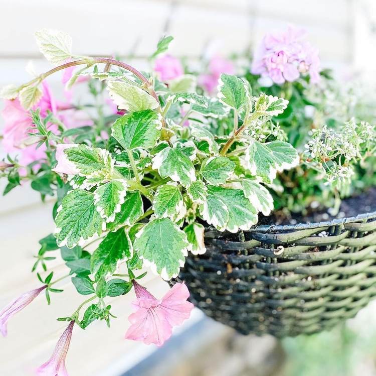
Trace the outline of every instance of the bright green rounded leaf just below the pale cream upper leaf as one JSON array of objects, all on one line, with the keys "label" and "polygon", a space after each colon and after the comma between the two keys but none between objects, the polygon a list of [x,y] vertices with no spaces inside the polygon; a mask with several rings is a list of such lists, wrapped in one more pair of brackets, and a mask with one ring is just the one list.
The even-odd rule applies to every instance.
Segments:
[{"label": "bright green rounded leaf just below the pale cream upper leaf", "polygon": [[127,151],[150,149],[160,136],[162,123],[151,110],[136,111],[119,117],[112,126],[112,137]]}]

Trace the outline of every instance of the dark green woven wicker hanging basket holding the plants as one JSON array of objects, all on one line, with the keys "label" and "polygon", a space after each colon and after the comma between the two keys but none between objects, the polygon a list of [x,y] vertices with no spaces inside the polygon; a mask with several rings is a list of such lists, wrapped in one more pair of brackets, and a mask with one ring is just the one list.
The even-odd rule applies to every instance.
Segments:
[{"label": "dark green woven wicker hanging basket holding the plants", "polygon": [[236,234],[210,227],[205,242],[177,280],[197,307],[243,334],[330,329],[376,296],[376,212]]}]

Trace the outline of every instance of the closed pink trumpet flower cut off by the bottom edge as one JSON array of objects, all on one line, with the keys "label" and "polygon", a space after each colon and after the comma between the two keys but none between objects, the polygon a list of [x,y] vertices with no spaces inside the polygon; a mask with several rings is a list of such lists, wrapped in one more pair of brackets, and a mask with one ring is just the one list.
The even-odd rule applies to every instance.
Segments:
[{"label": "closed pink trumpet flower cut off by the bottom edge", "polygon": [[38,376],[68,376],[65,358],[72,338],[73,325],[74,320],[69,323],[67,329],[59,338],[51,358],[37,368],[36,374]]}]

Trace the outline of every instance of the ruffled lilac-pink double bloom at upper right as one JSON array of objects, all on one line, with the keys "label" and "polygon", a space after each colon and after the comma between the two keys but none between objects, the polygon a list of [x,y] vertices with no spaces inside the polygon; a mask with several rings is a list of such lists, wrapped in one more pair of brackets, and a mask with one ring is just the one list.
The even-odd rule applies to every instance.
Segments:
[{"label": "ruffled lilac-pink double bloom at upper right", "polygon": [[301,73],[309,73],[311,82],[318,82],[318,50],[304,41],[304,36],[304,30],[292,26],[282,33],[266,34],[255,51],[251,72],[278,84],[295,81]]}]

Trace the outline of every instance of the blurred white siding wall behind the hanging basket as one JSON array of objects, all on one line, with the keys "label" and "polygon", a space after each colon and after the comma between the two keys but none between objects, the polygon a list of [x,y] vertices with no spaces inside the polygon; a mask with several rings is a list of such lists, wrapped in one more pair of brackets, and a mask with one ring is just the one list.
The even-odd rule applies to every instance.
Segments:
[{"label": "blurred white siding wall behind the hanging basket", "polygon": [[[164,34],[175,38],[169,50],[173,55],[198,58],[216,52],[226,56],[252,49],[267,30],[288,23],[307,30],[308,39],[320,50],[322,66],[333,68],[338,76],[374,69],[373,0],[0,0],[0,86],[27,81],[25,66],[30,60],[38,72],[49,68],[34,41],[34,32],[41,28],[68,32],[77,54],[131,54],[136,67],[142,68],[142,58]],[[59,79],[50,81],[58,96],[63,90]],[[38,251],[38,239],[53,230],[53,221],[52,203],[40,203],[39,194],[26,187],[15,189],[0,202],[0,250],[7,255],[0,265],[3,306],[38,286],[30,273],[32,256]],[[55,271],[63,275],[66,268],[56,263]],[[151,274],[148,278],[155,295],[167,289]],[[51,306],[39,297],[10,323],[9,337],[0,339],[2,376],[32,374],[50,356],[65,327],[56,317],[69,315],[81,302],[72,285],[61,287],[67,291],[54,295]],[[132,294],[113,298],[118,318],[110,330],[104,322],[86,331],[75,329],[67,360],[70,376],[117,376],[155,350],[123,339],[133,298]],[[200,317],[197,311],[185,328]]]}]

